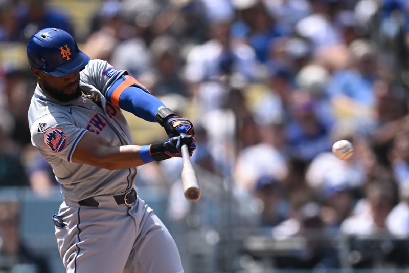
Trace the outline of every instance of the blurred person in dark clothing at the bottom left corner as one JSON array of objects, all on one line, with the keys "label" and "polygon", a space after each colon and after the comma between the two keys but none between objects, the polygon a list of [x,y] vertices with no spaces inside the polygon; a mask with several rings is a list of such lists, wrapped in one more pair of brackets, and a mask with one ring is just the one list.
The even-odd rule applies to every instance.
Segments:
[{"label": "blurred person in dark clothing at the bottom left corner", "polygon": [[[0,202],[0,269],[7,272],[49,273],[47,260],[20,240],[20,211],[17,202]],[[24,268],[24,269],[22,269]],[[26,271],[27,270],[27,271]]]}]

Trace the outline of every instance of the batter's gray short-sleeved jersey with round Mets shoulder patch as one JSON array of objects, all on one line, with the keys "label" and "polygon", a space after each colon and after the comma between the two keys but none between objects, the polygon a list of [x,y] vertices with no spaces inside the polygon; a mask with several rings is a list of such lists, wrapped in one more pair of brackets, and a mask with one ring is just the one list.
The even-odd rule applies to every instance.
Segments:
[{"label": "batter's gray short-sleeved jersey with round Mets shoulder patch", "polygon": [[133,144],[120,108],[104,97],[124,73],[106,61],[91,60],[80,72],[80,88],[87,97],[62,103],[37,85],[31,99],[28,118],[32,144],[52,166],[64,196],[73,201],[115,195],[133,187],[135,167],[107,170],[72,162],[76,145],[87,131],[102,136],[112,146]]}]

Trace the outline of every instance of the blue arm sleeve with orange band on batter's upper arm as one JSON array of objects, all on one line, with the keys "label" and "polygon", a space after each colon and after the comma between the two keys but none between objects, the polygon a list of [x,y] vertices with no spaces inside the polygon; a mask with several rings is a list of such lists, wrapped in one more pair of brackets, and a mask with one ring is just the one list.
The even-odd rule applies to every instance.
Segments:
[{"label": "blue arm sleeve with orange band on batter's upper arm", "polygon": [[122,76],[108,89],[106,93],[107,99],[111,103],[117,104],[116,101],[112,101],[114,100],[112,99],[112,94],[117,92],[115,97],[119,97],[118,106],[121,109],[131,112],[144,120],[157,122],[155,118],[157,110],[161,107],[165,107],[165,104],[151,95],[144,86],[138,84],[139,82],[137,80],[134,80],[133,85],[122,90],[120,86],[124,81],[125,76]]}]

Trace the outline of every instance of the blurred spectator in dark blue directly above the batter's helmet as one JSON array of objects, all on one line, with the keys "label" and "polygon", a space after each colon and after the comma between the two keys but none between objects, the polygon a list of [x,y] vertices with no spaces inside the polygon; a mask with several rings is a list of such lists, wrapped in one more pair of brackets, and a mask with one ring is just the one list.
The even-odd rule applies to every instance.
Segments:
[{"label": "blurred spectator in dark blue directly above the batter's helmet", "polygon": [[51,9],[46,0],[20,0],[17,6],[20,32],[25,40],[43,28],[59,28],[74,35],[70,16],[63,9]]}]

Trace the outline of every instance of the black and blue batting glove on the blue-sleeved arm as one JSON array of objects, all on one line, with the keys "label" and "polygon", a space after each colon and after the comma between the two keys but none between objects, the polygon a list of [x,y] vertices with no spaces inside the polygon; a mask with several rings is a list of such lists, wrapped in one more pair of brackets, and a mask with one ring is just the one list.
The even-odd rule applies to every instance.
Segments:
[{"label": "black and blue batting glove on the blue-sleeved arm", "polygon": [[177,116],[169,108],[161,108],[157,111],[156,120],[161,124],[168,134],[169,138],[178,136],[182,133],[194,136],[195,131],[193,129],[193,123],[185,118]]}]

